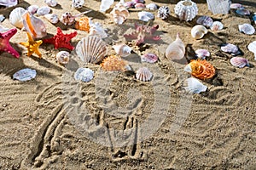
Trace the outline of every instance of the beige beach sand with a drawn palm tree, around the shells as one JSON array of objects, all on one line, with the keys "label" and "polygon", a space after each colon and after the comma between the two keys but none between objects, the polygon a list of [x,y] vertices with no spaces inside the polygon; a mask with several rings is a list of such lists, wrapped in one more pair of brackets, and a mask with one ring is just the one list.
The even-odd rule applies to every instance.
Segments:
[{"label": "beige beach sand with a drawn palm tree, around the shells", "polygon": [[[21,1],[27,8],[42,1]],[[125,31],[134,28],[139,9],[131,9],[124,25],[113,23],[110,10],[99,12],[100,1],[87,0],[84,8],[71,8],[71,1],[57,1],[53,13],[85,14],[108,29],[105,41],[109,54],[111,45],[125,42],[133,53],[124,58],[131,68],[147,66],[154,77],[150,82],[138,81],[132,72],[104,72],[99,65],[84,65],[72,53],[69,65],[59,65],[55,55],[64,48],[55,49],[42,44],[43,59],[36,54],[26,56],[25,31],[20,31],[10,42],[21,54],[15,59],[7,53],[0,57],[0,169],[253,169],[256,167],[255,104],[256,82],[254,56],[247,45],[256,40],[238,31],[238,25],[253,22],[247,16],[212,14],[206,1],[195,1],[199,8],[190,22],[178,20],[174,6],[178,1],[146,1],[166,5],[171,9],[168,20],[155,17],[150,26],[159,25],[156,34],[160,42],[146,42],[136,47],[125,41]],[[118,3],[118,2],[114,2]],[[256,12],[253,0],[233,1]],[[15,7],[13,7],[15,8]],[[9,13],[13,8],[2,8],[7,18],[3,26],[12,28]],[[153,11],[157,14],[157,10]],[[201,15],[211,16],[224,24],[224,29],[208,31],[200,40],[190,30]],[[75,31],[73,26],[61,23],[47,26],[48,37],[55,35],[60,26],[65,33]],[[253,24],[255,28],[255,24]],[[164,52],[177,32],[186,45],[186,58],[173,62]],[[88,35],[78,31],[72,39],[75,46]],[[230,42],[242,51],[250,67],[236,68],[230,64],[232,55],[220,50],[220,44]],[[216,68],[212,80],[203,81],[207,92],[188,94],[183,89],[184,79],[190,75],[183,71],[188,59],[198,48],[206,48],[211,56],[207,60]],[[70,51],[69,51],[70,52]],[[155,64],[142,63],[139,55],[159,55]],[[75,82],[73,73],[80,66],[95,71],[90,82]],[[13,80],[16,71],[32,68],[37,77],[28,82]]]}]

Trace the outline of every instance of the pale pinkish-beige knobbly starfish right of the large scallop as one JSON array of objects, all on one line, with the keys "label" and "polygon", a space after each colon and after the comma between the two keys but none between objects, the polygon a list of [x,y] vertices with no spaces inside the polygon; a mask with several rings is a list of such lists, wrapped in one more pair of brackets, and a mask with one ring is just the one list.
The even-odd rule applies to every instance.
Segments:
[{"label": "pale pinkish-beige knobbly starfish right of the large scallop", "polygon": [[147,40],[158,41],[161,39],[160,36],[155,36],[154,32],[159,28],[158,25],[155,26],[143,26],[135,24],[135,31],[131,34],[125,34],[126,39],[136,39],[136,44],[140,45],[141,43]]}]

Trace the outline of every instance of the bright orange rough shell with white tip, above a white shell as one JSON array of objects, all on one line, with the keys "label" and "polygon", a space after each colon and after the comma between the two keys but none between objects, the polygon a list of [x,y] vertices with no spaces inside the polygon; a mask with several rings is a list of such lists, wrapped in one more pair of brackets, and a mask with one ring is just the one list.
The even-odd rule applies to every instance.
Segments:
[{"label": "bright orange rough shell with white tip, above a white shell", "polygon": [[189,65],[185,66],[184,71],[189,72],[193,77],[199,79],[208,79],[215,75],[214,67],[205,59],[191,59]]}]

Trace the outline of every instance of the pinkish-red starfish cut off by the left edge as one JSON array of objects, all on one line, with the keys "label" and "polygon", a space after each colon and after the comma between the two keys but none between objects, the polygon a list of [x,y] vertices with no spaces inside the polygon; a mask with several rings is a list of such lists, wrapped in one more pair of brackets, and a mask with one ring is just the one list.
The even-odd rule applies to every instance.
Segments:
[{"label": "pinkish-red starfish cut off by the left edge", "polygon": [[9,39],[17,32],[16,28],[10,29],[6,32],[0,32],[0,51],[7,52],[14,55],[16,58],[20,57],[20,54],[9,44]]}]

